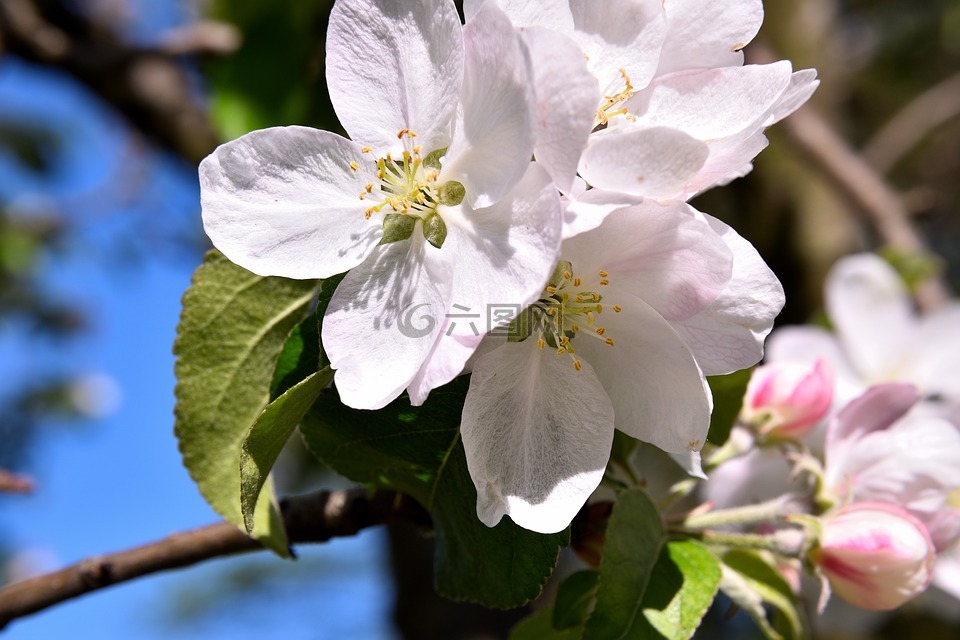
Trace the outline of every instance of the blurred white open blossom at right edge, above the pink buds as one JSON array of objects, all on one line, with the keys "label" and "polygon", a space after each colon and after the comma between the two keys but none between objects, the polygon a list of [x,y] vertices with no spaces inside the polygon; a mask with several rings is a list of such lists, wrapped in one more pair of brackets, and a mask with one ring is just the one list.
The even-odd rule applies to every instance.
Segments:
[{"label": "blurred white open blossom at right edge, above the pink buds", "polygon": [[909,382],[920,389],[923,410],[960,422],[960,304],[919,315],[893,268],[869,253],[838,260],[824,297],[834,330],[778,329],[767,345],[769,362],[829,361],[838,407],[870,385]]}]

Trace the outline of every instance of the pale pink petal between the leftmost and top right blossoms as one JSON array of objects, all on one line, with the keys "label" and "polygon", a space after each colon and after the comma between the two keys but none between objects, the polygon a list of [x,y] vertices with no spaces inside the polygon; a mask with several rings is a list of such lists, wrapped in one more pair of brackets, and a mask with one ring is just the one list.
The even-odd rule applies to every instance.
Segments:
[{"label": "pale pink petal between the leftmost and top right blossoms", "polygon": [[600,89],[574,42],[545,28],[523,31],[537,91],[537,162],[569,191],[593,129]]}]

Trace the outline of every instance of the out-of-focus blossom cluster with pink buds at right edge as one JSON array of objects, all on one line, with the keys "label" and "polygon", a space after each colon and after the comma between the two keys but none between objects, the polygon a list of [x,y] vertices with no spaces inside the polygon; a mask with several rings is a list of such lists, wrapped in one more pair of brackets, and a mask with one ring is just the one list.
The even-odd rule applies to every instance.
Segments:
[{"label": "out-of-focus blossom cluster with pink buds at right edge", "polygon": [[[872,254],[841,259],[825,298],[833,331],[771,335],[733,436],[746,455],[717,467],[707,496],[721,507],[772,498],[791,479],[802,488],[790,476],[802,469],[820,512],[808,559],[834,593],[887,610],[933,581],[960,598],[960,304],[918,317]],[[788,462],[790,441],[805,446]]]}]

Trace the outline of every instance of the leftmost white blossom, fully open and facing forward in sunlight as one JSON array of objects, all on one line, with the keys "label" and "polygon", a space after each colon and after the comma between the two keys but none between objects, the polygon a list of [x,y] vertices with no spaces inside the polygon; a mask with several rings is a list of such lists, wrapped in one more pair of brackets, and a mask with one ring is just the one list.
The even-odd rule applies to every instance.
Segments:
[{"label": "leftmost white blossom, fully open and facing forward in sunlight", "polygon": [[[529,55],[493,5],[462,27],[452,0],[338,0],[326,62],[350,139],[282,127],[219,147],[200,167],[204,228],[260,275],[349,271],[322,335],[342,400],[382,407],[429,362],[422,401],[462,370],[485,306],[532,303],[557,260]],[[477,319],[443,323],[462,309]],[[434,358],[442,341],[459,348]]]}]

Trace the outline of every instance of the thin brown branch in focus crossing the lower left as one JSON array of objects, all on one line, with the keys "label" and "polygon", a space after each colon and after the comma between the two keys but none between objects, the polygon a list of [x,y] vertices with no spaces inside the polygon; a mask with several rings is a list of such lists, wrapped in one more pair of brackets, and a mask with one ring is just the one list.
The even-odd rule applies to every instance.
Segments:
[{"label": "thin brown branch in focus crossing the lower left", "polygon": [[[296,496],[284,500],[280,508],[291,543],[326,542],[394,520],[429,521],[426,511],[407,496],[393,492],[371,494],[360,488]],[[220,522],[134,549],[87,558],[60,571],[0,589],[0,629],[11,620],[97,589],[263,548],[233,525]]]}]

